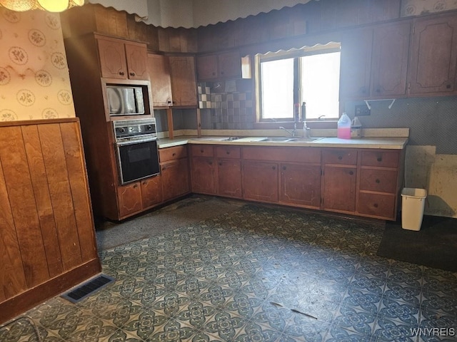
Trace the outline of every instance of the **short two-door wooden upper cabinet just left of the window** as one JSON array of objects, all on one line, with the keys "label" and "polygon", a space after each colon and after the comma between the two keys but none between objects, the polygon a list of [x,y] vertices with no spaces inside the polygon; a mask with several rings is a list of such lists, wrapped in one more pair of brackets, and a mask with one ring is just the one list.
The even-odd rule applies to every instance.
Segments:
[{"label": "short two-door wooden upper cabinet just left of the window", "polygon": [[247,78],[243,66],[248,63],[238,51],[197,56],[197,78],[199,81]]}]

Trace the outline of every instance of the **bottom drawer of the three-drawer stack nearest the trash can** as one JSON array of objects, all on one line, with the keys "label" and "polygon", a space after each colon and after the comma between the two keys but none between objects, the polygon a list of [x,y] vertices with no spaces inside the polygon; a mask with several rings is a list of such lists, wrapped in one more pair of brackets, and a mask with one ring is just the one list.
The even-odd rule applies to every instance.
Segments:
[{"label": "bottom drawer of the three-drawer stack nearest the trash can", "polygon": [[358,194],[358,212],[376,217],[394,219],[395,195]]}]

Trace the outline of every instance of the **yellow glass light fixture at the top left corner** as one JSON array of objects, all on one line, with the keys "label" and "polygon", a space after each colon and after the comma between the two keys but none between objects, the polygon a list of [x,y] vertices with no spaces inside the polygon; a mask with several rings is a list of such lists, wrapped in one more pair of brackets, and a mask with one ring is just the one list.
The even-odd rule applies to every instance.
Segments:
[{"label": "yellow glass light fixture at the top left corner", "polygon": [[16,12],[29,11],[31,9],[61,12],[73,6],[83,5],[84,0],[0,0],[0,6]]}]

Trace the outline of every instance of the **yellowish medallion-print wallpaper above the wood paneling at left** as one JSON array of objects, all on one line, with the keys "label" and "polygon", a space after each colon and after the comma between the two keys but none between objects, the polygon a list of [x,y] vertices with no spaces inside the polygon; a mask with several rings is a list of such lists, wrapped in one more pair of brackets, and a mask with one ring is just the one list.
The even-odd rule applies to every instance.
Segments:
[{"label": "yellowish medallion-print wallpaper above the wood paneling at left", "polygon": [[0,8],[0,121],[75,116],[59,14]]}]

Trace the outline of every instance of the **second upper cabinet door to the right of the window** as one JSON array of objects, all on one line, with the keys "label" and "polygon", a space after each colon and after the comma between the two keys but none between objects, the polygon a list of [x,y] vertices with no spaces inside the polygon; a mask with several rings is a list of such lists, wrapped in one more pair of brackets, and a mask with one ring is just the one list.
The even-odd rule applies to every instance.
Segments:
[{"label": "second upper cabinet door to the right of the window", "polygon": [[371,98],[406,96],[411,22],[380,26],[374,31]]}]

